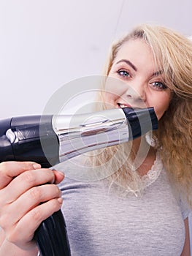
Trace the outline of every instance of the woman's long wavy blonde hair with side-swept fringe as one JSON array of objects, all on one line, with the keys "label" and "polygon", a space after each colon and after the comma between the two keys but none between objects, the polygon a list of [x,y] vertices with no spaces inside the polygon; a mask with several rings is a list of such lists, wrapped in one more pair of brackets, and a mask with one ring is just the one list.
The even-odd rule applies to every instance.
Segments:
[{"label": "woman's long wavy blonde hair with side-swept fringe", "polygon": [[[130,39],[144,39],[153,52],[155,65],[164,73],[164,83],[172,91],[169,109],[154,132],[161,147],[161,158],[167,172],[177,189],[183,189],[188,197],[192,185],[192,43],[191,40],[171,29],[161,26],[141,25],[131,31],[118,42],[113,43],[107,59],[104,75],[110,73],[115,56],[122,45]],[[100,99],[103,100],[103,95]],[[125,150],[125,145],[118,148],[107,148],[104,154],[97,157],[96,162],[104,159],[117,150]],[[124,148],[124,149],[123,149]],[[112,153],[113,152],[113,153]],[[117,159],[116,159],[117,160]],[[115,160],[115,161],[116,161]],[[122,159],[123,164],[118,173],[124,173],[120,180],[134,184],[137,189],[139,178],[131,172],[130,157]],[[116,173],[115,179],[120,175]],[[126,174],[125,174],[126,173]],[[133,177],[134,175],[134,177]],[[126,178],[125,178],[126,176]],[[122,183],[120,181],[120,183]],[[128,186],[129,186],[128,184]],[[129,186],[130,187],[130,186]]]}]

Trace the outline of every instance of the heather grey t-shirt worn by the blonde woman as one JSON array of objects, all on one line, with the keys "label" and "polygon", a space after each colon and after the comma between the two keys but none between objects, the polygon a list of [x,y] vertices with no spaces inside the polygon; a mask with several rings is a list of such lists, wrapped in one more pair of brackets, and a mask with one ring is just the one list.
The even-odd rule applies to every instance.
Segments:
[{"label": "heather grey t-shirt worn by the blonde woman", "polygon": [[65,178],[62,211],[72,256],[179,256],[189,210],[174,197],[166,171],[142,197],[120,197],[107,181]]}]

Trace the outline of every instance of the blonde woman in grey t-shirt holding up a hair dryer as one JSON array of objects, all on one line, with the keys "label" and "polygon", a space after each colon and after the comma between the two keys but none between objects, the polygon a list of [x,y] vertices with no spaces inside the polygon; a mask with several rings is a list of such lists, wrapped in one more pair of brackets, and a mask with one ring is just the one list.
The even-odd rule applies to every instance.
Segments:
[{"label": "blonde woman in grey t-shirt holding up a hair dryer", "polygon": [[[104,108],[154,107],[159,128],[131,150],[94,155],[118,166],[110,177],[59,185],[72,255],[190,255],[191,70],[191,42],[169,29],[140,26],[112,45]],[[37,255],[34,231],[61,208],[64,176],[31,162],[0,167],[0,255]]]}]

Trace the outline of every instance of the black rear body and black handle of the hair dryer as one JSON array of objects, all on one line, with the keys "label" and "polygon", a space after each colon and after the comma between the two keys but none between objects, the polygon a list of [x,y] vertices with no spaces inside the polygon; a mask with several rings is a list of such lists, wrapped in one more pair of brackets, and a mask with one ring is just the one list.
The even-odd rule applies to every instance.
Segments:
[{"label": "black rear body and black handle of the hair dryer", "polygon": [[[43,117],[42,124],[45,129],[42,139],[47,140],[50,153],[54,152],[53,163],[58,161],[58,141],[51,127],[52,116]],[[41,116],[22,116],[7,118],[0,121],[0,162],[3,161],[35,161],[42,167],[50,167],[40,143]],[[11,142],[7,138],[7,131],[11,132],[17,140]],[[47,136],[49,135],[49,136]],[[70,256],[69,239],[66,231],[64,216],[60,211],[43,221],[35,232],[35,240],[41,256]]]}]

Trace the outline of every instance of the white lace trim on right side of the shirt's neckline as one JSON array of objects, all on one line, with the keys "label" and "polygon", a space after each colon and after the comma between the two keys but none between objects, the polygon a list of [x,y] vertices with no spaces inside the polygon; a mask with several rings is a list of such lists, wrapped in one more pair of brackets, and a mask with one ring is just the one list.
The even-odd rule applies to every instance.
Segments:
[{"label": "white lace trim on right side of the shirt's neckline", "polygon": [[161,161],[160,153],[159,153],[159,151],[157,151],[156,159],[155,159],[153,166],[151,167],[150,170],[148,170],[147,174],[142,176],[142,182],[143,182],[144,187],[149,187],[150,184],[153,184],[153,182],[155,182],[157,180],[157,178],[160,175],[161,170],[163,170],[163,168],[164,168],[164,166]]}]

